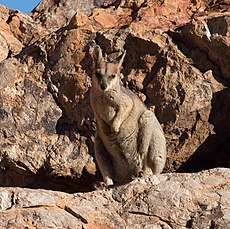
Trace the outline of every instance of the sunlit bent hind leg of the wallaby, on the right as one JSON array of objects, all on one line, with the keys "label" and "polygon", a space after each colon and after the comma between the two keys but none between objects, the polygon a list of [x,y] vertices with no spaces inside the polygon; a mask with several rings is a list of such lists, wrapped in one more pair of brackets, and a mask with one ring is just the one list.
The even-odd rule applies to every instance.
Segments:
[{"label": "sunlit bent hind leg of the wallaby, on the right", "polygon": [[160,174],[166,161],[166,141],[163,130],[155,114],[146,110],[139,119],[139,153],[143,161],[143,170]]}]

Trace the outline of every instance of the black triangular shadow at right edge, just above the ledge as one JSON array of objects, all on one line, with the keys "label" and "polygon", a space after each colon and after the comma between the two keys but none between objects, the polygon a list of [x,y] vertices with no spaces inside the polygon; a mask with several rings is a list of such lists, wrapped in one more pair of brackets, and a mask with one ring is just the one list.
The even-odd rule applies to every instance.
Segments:
[{"label": "black triangular shadow at right edge, just above the ledge", "polygon": [[230,88],[215,93],[209,119],[216,134],[210,135],[178,172],[230,167]]}]

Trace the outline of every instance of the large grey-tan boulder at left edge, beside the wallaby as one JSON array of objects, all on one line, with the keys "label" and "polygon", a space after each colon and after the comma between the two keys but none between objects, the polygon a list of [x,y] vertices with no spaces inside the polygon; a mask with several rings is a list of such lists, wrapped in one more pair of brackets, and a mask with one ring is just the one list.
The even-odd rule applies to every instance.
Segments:
[{"label": "large grey-tan boulder at left edge, beside the wallaby", "polygon": [[62,111],[46,85],[30,78],[28,67],[16,59],[1,62],[0,69],[1,185],[39,186],[41,175],[79,178],[84,170],[95,173],[86,140],[79,136],[71,142],[58,135]]}]

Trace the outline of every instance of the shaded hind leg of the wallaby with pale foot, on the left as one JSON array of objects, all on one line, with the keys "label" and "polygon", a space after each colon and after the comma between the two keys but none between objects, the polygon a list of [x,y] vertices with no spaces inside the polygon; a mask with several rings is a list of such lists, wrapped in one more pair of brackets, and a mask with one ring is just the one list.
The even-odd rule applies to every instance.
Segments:
[{"label": "shaded hind leg of the wallaby with pale foot, on the left", "polygon": [[94,153],[105,186],[113,185],[112,162],[98,133],[95,136]]}]

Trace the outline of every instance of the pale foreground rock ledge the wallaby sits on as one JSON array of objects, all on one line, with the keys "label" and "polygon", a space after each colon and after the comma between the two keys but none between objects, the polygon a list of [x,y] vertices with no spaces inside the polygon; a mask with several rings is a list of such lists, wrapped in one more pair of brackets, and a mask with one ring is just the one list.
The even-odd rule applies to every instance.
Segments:
[{"label": "pale foreground rock ledge the wallaby sits on", "polygon": [[162,174],[66,194],[0,188],[1,228],[228,228],[230,170]]}]

